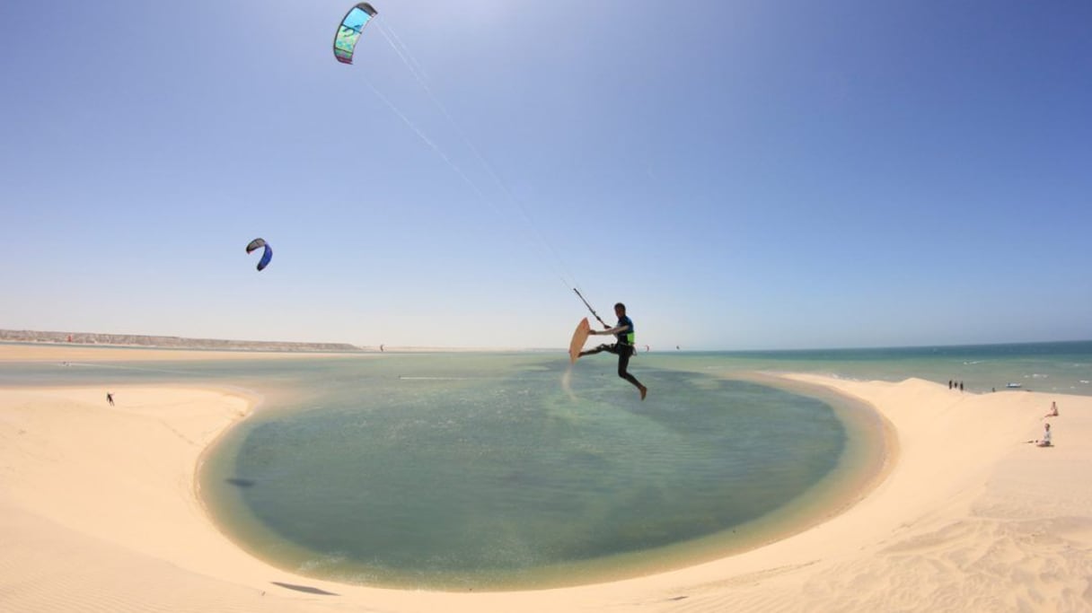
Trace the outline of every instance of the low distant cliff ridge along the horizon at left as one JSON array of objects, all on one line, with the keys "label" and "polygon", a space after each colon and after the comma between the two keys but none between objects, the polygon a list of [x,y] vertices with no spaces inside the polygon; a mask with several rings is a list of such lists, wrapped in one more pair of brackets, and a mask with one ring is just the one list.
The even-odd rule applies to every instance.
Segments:
[{"label": "low distant cliff ridge along the horizon at left", "polygon": [[367,351],[347,342],[289,342],[278,340],[222,340],[216,338],[182,338],[179,336],[142,336],[136,334],[92,334],[85,332],[37,332],[0,329],[0,341],[70,342],[73,345],[110,345],[156,349],[219,349],[236,351]]}]

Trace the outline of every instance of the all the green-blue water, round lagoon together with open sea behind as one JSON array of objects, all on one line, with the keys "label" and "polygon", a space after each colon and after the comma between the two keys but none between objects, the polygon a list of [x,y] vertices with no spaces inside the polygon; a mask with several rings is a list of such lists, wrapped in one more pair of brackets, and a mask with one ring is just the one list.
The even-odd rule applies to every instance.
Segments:
[{"label": "all the green-blue water, round lagoon together with open sea behind", "polygon": [[757,546],[876,477],[870,411],[746,373],[1090,395],[1092,342],[642,352],[630,372],[650,387],[644,402],[614,371],[608,354],[570,369],[560,351],[402,353],[2,363],[0,385],[254,392],[256,414],[199,474],[206,508],[241,548],[351,584],[526,589]]}]

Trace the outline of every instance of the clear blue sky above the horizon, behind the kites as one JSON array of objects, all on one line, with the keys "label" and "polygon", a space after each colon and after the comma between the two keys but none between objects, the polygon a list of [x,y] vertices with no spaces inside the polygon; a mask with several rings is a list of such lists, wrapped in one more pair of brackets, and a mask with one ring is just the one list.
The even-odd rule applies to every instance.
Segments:
[{"label": "clear blue sky above the horizon, behind the kites", "polygon": [[1092,338],[1092,3],[373,4],[0,4],[0,327]]}]

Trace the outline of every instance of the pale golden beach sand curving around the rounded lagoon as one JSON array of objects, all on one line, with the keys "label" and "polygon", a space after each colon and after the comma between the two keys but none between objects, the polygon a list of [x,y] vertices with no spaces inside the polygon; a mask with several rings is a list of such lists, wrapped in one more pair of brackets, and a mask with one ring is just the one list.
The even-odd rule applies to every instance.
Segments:
[{"label": "pale golden beach sand curving around the rounded lagoon", "polygon": [[[254,398],[112,386],[111,407],[105,388],[0,389],[0,611],[1092,611],[1092,397],[785,376],[889,422],[885,478],[855,504],[684,569],[491,593],[321,581],[236,546],[194,473]],[[1028,444],[1052,401],[1055,446]]]}]

